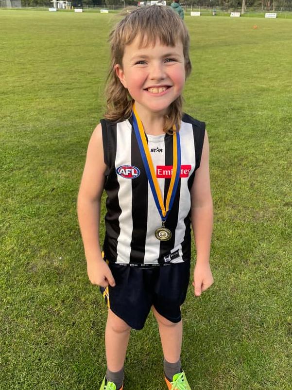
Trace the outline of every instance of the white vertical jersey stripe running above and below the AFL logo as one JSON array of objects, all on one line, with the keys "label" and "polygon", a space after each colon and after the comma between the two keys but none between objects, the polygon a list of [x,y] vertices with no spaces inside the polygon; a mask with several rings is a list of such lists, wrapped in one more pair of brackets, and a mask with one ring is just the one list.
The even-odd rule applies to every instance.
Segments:
[{"label": "white vertical jersey stripe running above and below the AFL logo", "polygon": [[[121,165],[131,165],[131,127],[127,122],[117,124],[116,169]],[[117,263],[129,263],[133,231],[132,220],[132,180],[117,175],[120,189],[118,192],[121,213],[119,216],[120,235],[117,245]]]}]

